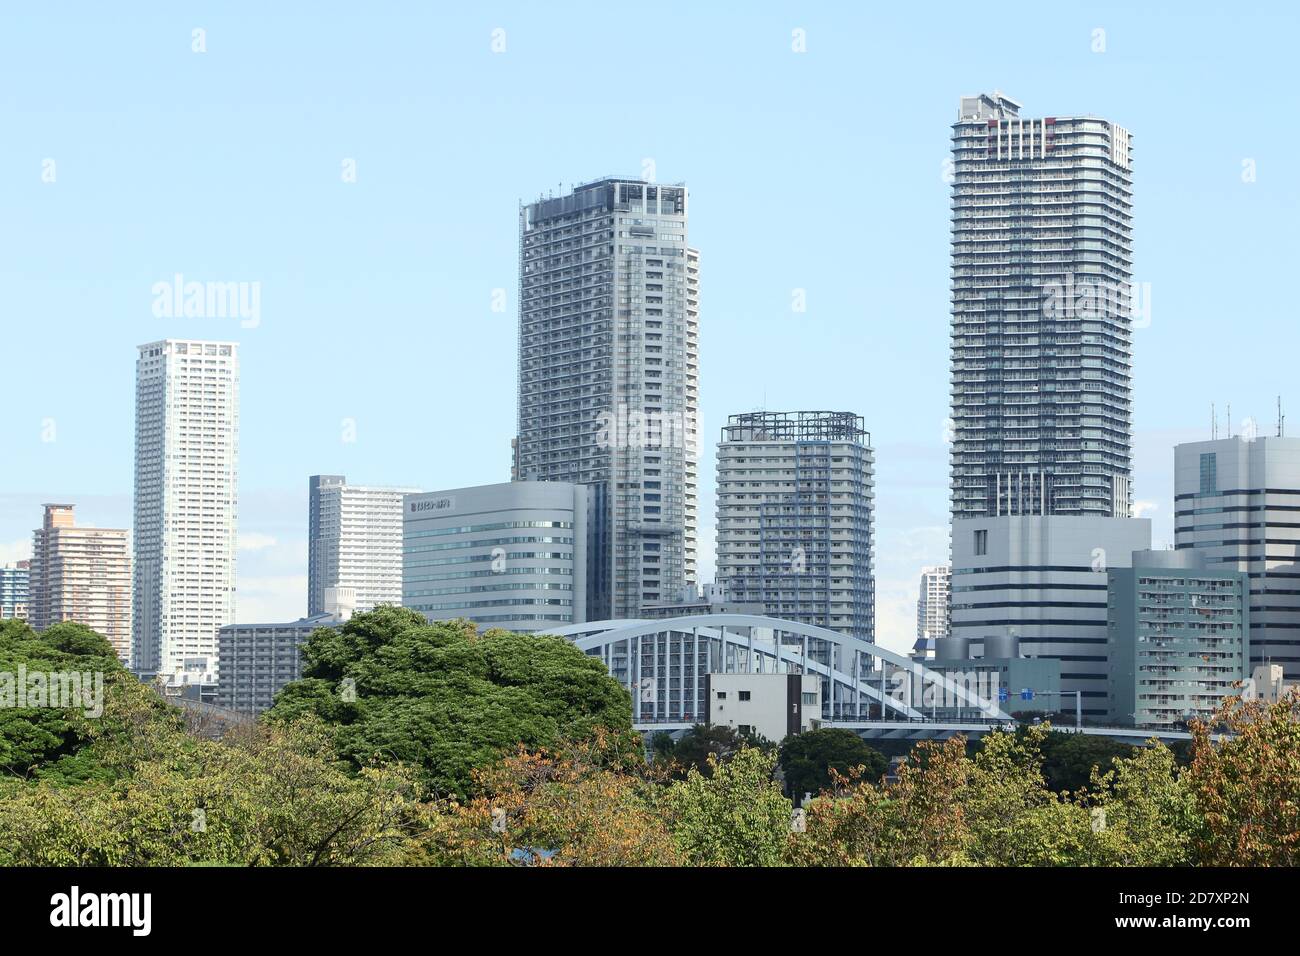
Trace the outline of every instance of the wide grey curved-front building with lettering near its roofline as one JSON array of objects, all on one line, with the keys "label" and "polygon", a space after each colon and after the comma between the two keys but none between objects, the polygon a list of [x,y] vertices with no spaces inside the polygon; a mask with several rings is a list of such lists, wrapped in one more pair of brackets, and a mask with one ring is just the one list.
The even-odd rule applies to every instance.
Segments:
[{"label": "wide grey curved-front building with lettering near its roofline", "polygon": [[519,632],[584,622],[586,492],[508,481],[407,496],[402,605]]}]

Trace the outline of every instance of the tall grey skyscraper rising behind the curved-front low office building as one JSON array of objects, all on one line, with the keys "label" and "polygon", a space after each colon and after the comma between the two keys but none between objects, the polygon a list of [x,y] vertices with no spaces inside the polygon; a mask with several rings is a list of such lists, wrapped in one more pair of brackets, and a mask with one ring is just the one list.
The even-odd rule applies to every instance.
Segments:
[{"label": "tall grey skyscraper rising behind the curved-front low office building", "polygon": [[589,486],[588,619],[696,583],[699,255],[686,187],[599,179],[519,215],[516,480]]}]

